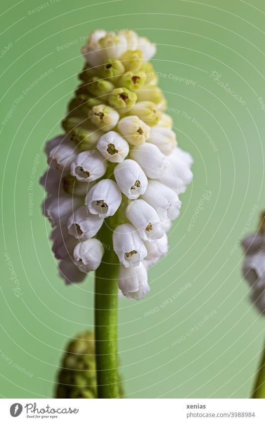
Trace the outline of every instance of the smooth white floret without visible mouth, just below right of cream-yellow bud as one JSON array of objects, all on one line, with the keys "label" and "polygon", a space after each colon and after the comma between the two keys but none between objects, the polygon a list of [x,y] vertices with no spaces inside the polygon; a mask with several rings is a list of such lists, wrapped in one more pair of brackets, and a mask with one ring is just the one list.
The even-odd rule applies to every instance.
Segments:
[{"label": "smooth white floret without visible mouth, just below right of cream-yellow bud", "polygon": [[166,156],[149,142],[132,148],[131,157],[140,164],[148,178],[160,178],[166,169]]}]

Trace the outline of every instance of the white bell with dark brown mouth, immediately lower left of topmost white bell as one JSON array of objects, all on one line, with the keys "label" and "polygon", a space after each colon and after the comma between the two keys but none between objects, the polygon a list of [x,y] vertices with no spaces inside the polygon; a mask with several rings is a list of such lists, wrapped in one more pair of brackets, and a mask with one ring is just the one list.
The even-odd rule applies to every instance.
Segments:
[{"label": "white bell with dark brown mouth, immediately lower left of topmost white bell", "polygon": [[79,181],[94,181],[106,172],[106,160],[98,151],[83,151],[71,164],[71,175]]}]

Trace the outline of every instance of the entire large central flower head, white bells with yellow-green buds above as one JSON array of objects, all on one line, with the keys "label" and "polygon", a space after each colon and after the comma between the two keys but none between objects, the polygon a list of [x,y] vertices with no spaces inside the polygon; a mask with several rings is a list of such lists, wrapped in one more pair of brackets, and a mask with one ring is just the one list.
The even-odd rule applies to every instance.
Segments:
[{"label": "entire large central flower head, white bells with yellow-green buds above", "polygon": [[147,269],[167,254],[178,194],[192,179],[192,158],[177,147],[148,62],[155,51],[134,31],[90,35],[82,83],[63,121],[66,134],[47,142],[49,169],[41,179],[61,275],[80,282],[97,269],[107,222],[102,228],[113,232],[118,285],[129,299],[150,290]]}]

